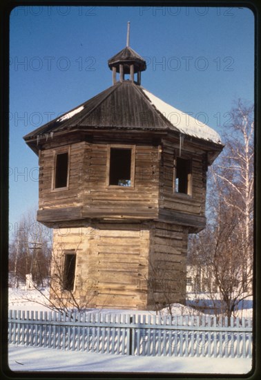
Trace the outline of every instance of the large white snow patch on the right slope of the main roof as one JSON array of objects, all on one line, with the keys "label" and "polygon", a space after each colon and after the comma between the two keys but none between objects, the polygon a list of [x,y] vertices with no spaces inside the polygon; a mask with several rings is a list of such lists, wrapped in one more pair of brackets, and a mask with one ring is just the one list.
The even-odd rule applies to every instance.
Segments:
[{"label": "large white snow patch on the right slope of the main roof", "polygon": [[155,106],[157,111],[160,111],[160,113],[162,113],[173,126],[179,129],[181,133],[221,144],[220,135],[210,126],[200,122],[200,120],[194,119],[194,117],[174,108],[170,104],[163,102],[162,99],[159,99],[149,91],[145,90],[145,88],[142,88],[142,91],[151,101],[153,106]]}]

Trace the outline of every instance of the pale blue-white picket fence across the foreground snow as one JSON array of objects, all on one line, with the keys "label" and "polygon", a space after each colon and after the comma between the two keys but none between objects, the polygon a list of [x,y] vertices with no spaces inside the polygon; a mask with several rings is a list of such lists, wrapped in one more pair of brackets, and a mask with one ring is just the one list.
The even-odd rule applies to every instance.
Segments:
[{"label": "pale blue-white picket fence across the foreground snow", "polygon": [[10,310],[14,345],[108,354],[252,357],[251,319]]}]

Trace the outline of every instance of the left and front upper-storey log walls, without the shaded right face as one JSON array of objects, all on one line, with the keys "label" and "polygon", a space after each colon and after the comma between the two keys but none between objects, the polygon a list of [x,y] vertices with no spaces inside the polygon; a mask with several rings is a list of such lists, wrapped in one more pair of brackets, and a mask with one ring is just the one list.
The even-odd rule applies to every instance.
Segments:
[{"label": "left and front upper-storey log walls, without the shaded right face", "polygon": [[[81,218],[110,217],[151,218],[157,216],[158,149],[135,146],[134,187],[108,186],[108,145],[79,142],[70,145],[68,189],[52,190],[55,151],[41,151],[39,158],[39,210],[64,209],[63,218],[72,216],[71,207],[81,207]],[[77,215],[79,211],[77,211]],[[42,213],[39,221],[55,220],[55,214]]]}]

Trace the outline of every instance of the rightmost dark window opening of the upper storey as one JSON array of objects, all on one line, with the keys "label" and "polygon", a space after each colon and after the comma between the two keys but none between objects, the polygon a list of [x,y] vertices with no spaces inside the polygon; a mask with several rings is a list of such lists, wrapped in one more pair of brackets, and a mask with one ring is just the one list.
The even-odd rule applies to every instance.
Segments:
[{"label": "rightmost dark window opening of the upper storey", "polygon": [[174,185],[176,193],[191,195],[191,160],[177,158]]}]

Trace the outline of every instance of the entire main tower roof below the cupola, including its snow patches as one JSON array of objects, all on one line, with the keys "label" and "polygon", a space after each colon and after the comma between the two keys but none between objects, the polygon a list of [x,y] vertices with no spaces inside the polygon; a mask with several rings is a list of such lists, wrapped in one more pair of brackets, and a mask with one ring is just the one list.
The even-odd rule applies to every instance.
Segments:
[{"label": "entire main tower roof below the cupola, including its snow patches", "polygon": [[117,82],[23,138],[37,151],[39,136],[75,129],[174,131],[221,144],[220,136],[209,126],[166,104],[131,81]]}]

